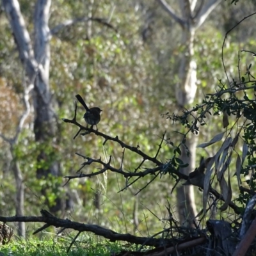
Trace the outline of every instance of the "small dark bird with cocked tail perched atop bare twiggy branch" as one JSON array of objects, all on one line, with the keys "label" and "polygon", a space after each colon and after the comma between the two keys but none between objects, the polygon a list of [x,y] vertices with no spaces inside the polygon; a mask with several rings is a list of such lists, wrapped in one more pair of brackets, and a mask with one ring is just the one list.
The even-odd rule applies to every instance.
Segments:
[{"label": "small dark bird with cocked tail perched atop bare twiggy branch", "polygon": [[[83,107],[86,109],[86,113],[84,113],[84,120],[87,124],[96,125],[100,122],[100,112],[102,111],[100,108],[94,107],[94,108],[88,108],[88,106],[85,104],[83,98],[81,95],[77,94],[76,99],[83,105]],[[92,128],[91,127],[91,128]],[[97,128],[98,129],[98,128]]]}]

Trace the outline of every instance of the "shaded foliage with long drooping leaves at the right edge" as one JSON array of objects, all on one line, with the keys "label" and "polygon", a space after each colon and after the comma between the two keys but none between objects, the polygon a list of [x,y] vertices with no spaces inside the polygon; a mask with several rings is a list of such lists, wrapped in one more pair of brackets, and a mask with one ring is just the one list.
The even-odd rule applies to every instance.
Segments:
[{"label": "shaded foliage with long drooping leaves at the right edge", "polygon": [[[252,71],[250,71],[253,70],[252,64],[246,66],[244,71],[243,69],[240,70],[240,68],[241,67],[239,66],[239,74],[244,73],[245,76],[241,75],[238,80],[233,78],[228,86],[220,81],[219,90],[216,93],[209,93],[206,95],[202,104],[196,105],[189,111],[184,111],[184,115],[182,116],[170,116],[172,120],[179,121],[182,125],[186,126],[189,132],[197,134],[200,126],[211,122],[210,120],[214,116],[223,115],[223,127],[226,128],[229,125],[226,130],[225,140],[214,154],[215,167],[213,167],[214,162],[212,162],[211,166],[207,166],[207,171],[205,173],[205,179],[206,176],[208,176],[209,182],[211,179],[211,183],[214,179],[213,177],[218,179],[223,195],[227,193],[227,190],[223,190],[224,188],[222,187],[223,185],[221,185],[221,182],[225,179],[230,180],[232,178],[232,173],[234,174],[234,171],[232,172],[234,169],[236,169],[237,188],[241,188],[240,186],[243,188],[243,186],[245,186],[246,188],[250,188],[250,191],[255,191],[256,189],[256,175],[253,172],[256,164],[254,154],[256,148],[256,81]],[[207,113],[212,117],[207,116]],[[220,117],[218,118],[220,119]],[[192,119],[193,121],[189,119]],[[232,124],[229,124],[228,120],[230,120]],[[186,136],[187,134],[184,134],[184,138],[186,138]],[[213,143],[220,141],[222,137],[223,133],[218,134],[211,141],[199,145],[198,147],[209,147]],[[242,152],[239,150],[238,145],[243,145]],[[179,154],[178,150],[176,150],[176,152]],[[232,164],[232,162],[235,163],[234,160],[232,161],[233,152],[236,152],[236,166]],[[213,177],[211,175],[212,172],[214,173]],[[245,179],[243,179],[243,177],[245,177]],[[207,182],[204,182],[204,191],[207,190],[205,189],[206,184]],[[235,187],[234,183],[232,184],[232,187]],[[232,193],[230,184],[225,186],[227,186],[225,189],[230,190],[230,193]],[[253,194],[244,193],[244,190],[241,189],[241,193],[237,195],[235,200],[245,207],[252,196]],[[228,199],[226,198],[225,200]]]}]

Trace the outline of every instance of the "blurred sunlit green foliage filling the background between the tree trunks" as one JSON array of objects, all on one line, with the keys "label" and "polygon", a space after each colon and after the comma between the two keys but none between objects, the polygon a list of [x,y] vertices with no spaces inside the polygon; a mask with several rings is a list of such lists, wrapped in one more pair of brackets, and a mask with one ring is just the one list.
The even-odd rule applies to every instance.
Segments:
[{"label": "blurred sunlit green foliage filling the background between the tree trunks", "polygon": [[[29,31],[33,31],[33,3],[20,1],[20,4]],[[254,65],[253,61],[249,61],[248,68],[246,68],[248,55],[240,54],[240,62],[238,62],[237,56],[239,49],[243,49],[245,46],[251,49],[253,46],[255,47],[255,36],[252,35],[251,39],[248,35],[249,39],[246,44],[238,43],[230,36],[228,46],[224,47],[225,65],[229,70],[228,74],[231,73],[234,77],[233,92],[223,82],[226,79],[221,65],[223,34],[219,26],[214,27],[212,22],[209,22],[209,24],[205,24],[205,29],[202,32],[198,31],[195,40],[195,60],[199,70],[198,99],[196,99],[195,108],[191,112],[185,111],[181,116],[182,110],[175,104],[173,90],[179,70],[179,52],[184,47],[177,45],[180,28],[177,28],[174,23],[170,26],[170,20],[167,20],[166,16],[159,12],[159,8],[156,8],[153,3],[148,2],[147,4],[147,11],[154,10],[153,17],[156,17],[156,22],[150,24],[152,35],[147,41],[143,41],[141,38],[141,30],[145,25],[143,13],[134,12],[134,6],[131,3],[120,4],[117,1],[101,1],[97,6],[93,6],[92,14],[94,17],[108,19],[114,5],[115,12],[109,22],[118,29],[118,33],[97,22],[92,22],[91,25],[88,22],[77,22],[74,26],[63,28],[58,34],[52,36],[50,83],[52,101],[56,107],[56,127],[58,129],[58,135],[53,140],[58,143],[56,143],[56,147],[52,148],[52,141],[41,145],[34,142],[33,129],[31,129],[34,118],[32,113],[14,150],[15,160],[19,161],[26,185],[25,207],[29,214],[38,214],[39,210],[45,207],[46,200],[53,205],[57,196],[65,198],[64,189],[67,188],[72,191],[75,200],[71,214],[77,221],[90,220],[105,227],[116,228],[118,231],[122,228],[130,231],[134,227],[132,223],[134,194],[143,188],[150,178],[145,177],[140,183],[134,184],[131,191],[123,193],[118,193],[118,191],[124,188],[126,180],[111,172],[108,172],[106,177],[74,179],[64,188],[62,186],[67,179],[52,176],[40,180],[36,178],[36,169],[38,167],[47,168],[53,161],[59,161],[63,177],[76,175],[84,161],[76,155],[76,152],[88,157],[104,157],[106,161],[109,156],[112,156],[116,166],[122,162],[123,149],[115,147],[111,141],[102,146],[102,138],[91,134],[85,137],[79,136],[73,140],[77,127],[63,124],[61,118],[74,116],[74,95],[77,93],[84,95],[89,106],[100,106],[103,109],[99,131],[104,131],[111,136],[118,135],[129,145],[138,145],[145,154],[150,156],[156,154],[159,137],[167,130],[166,138],[170,138],[170,140],[166,140],[166,145],[161,148],[159,159],[163,163],[168,159],[171,164],[167,164],[161,179],[157,178],[156,183],[150,184],[150,188],[144,189],[139,195],[141,204],[138,212],[141,234],[147,232],[147,234],[152,234],[156,229],[161,229],[156,225],[155,216],[151,212],[157,216],[166,216],[168,214],[164,207],[166,198],[172,200],[172,204],[175,205],[173,200],[175,196],[170,195],[170,191],[177,179],[174,170],[186,167],[186,163],[182,163],[179,159],[180,147],[185,145],[186,141],[184,134],[192,131],[193,134],[198,134],[200,141],[210,141],[214,135],[223,131],[220,119],[224,112],[227,113],[229,127],[232,127],[230,136],[236,138],[237,132],[239,129],[241,130],[236,145],[240,156],[240,148],[243,147],[242,141],[248,145],[248,158],[244,161],[241,175],[245,177],[243,182],[248,183],[251,189],[255,189],[255,177],[248,176],[252,173],[252,166],[255,164],[253,155],[255,152],[254,89],[246,89],[249,85],[254,86],[252,82]],[[51,29],[63,20],[87,17],[88,6],[90,6],[90,1],[54,1],[51,8]],[[92,30],[91,35],[87,35],[89,26]],[[24,74],[20,68],[19,56],[14,51],[15,42],[12,33],[4,17],[1,17],[0,32],[3,35],[0,41],[1,76],[8,81],[8,83],[4,83],[8,84],[6,87],[3,86],[3,81],[0,81],[1,92],[7,92],[7,90],[11,92],[6,97],[7,100],[3,99],[1,102],[1,104],[7,102],[0,109],[1,111],[5,110],[5,112],[1,112],[1,116],[4,116],[1,133],[9,138],[13,135],[14,124],[17,124],[23,110],[22,102],[19,99],[22,95]],[[238,74],[234,76],[233,70],[237,64],[239,64],[241,76]],[[246,88],[241,87],[242,84]],[[214,92],[216,87],[220,95],[204,97],[205,94]],[[160,116],[161,113],[167,111],[175,113],[172,120],[168,115],[163,115],[168,119]],[[84,124],[83,113],[84,109],[79,106],[77,121],[81,124]],[[196,119],[192,114],[195,114]],[[243,123],[243,118],[246,118],[245,123]],[[180,123],[173,123],[173,120]],[[240,125],[243,129],[240,128]],[[236,129],[237,131],[235,131]],[[204,156],[216,154],[220,147],[218,143],[207,148],[208,152],[200,152],[198,162],[201,154]],[[0,195],[4,200],[1,201],[0,206],[1,209],[4,209],[5,215],[12,215],[15,213],[15,185],[12,168],[9,169],[10,172],[6,171],[8,147],[4,143],[2,146],[3,150],[0,156],[3,160],[1,164],[4,172],[1,173]],[[48,158],[47,161],[38,163],[36,156],[40,150],[44,150]],[[187,153],[189,154],[189,152]],[[124,156],[125,170],[134,172],[134,168],[141,162],[141,158],[133,152],[126,151]],[[152,166],[145,163],[145,168],[147,167]],[[235,163],[230,163],[231,174],[235,169]],[[86,173],[96,171],[95,166],[88,166],[83,170]],[[172,177],[166,174],[170,174]],[[41,189],[46,191],[44,196],[40,193]],[[95,209],[93,201],[97,191],[101,197],[99,211]],[[159,192],[154,193],[155,191]],[[241,204],[245,204],[250,196],[248,193],[243,193],[237,198]],[[161,218],[159,217],[159,219]]]}]

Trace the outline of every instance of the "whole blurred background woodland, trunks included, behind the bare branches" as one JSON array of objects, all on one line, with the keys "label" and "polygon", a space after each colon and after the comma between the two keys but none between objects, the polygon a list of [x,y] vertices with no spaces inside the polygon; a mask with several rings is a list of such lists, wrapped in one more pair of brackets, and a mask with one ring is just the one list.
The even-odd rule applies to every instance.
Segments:
[{"label": "whole blurred background woodland, trunks included, behind the bare branches", "polygon": [[[225,45],[223,40],[237,22],[256,11],[255,2],[3,0],[1,4],[0,216],[39,215],[40,209],[48,209],[61,218],[138,236],[162,230],[170,211],[182,224],[193,220],[202,210],[202,193],[182,182],[175,187],[172,175],[162,173],[154,181],[146,175],[126,188],[127,179],[108,170],[66,184],[65,176],[77,175],[84,163],[76,153],[105,162],[111,156],[111,164],[126,172],[140,171],[143,158],[113,141],[104,143],[94,133],[74,140],[77,127],[62,118],[73,118],[79,93],[88,106],[103,109],[99,132],[118,136],[148,156],[159,150],[157,159],[163,163],[172,159],[188,126],[173,122],[166,113],[182,115],[228,83],[227,77],[234,81],[253,70],[254,56],[241,51],[253,51],[256,45],[256,17],[243,20],[228,34]],[[17,4],[23,19],[19,28],[12,22],[19,19],[11,12]],[[84,125],[83,115],[77,104],[77,122]],[[182,163],[189,163],[180,170],[186,175],[221,146],[196,148],[225,132],[221,115],[208,117],[207,125],[188,134],[186,147],[180,147]],[[229,119],[234,122],[236,118]],[[243,144],[238,143],[236,150],[241,154]],[[154,168],[147,161],[140,167]],[[98,170],[92,164],[80,173]],[[236,160],[230,162],[233,198],[240,193],[235,172]],[[241,183],[246,179],[241,177]],[[212,188],[218,190],[218,183]],[[214,212],[218,218],[232,218],[233,213]],[[13,228],[25,237],[36,225],[27,223],[25,228],[17,223]]]}]

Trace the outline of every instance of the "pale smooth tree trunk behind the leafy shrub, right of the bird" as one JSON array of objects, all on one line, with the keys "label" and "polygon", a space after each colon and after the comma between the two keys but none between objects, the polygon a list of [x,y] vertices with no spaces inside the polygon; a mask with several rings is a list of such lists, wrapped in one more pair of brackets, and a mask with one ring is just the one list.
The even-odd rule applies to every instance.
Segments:
[{"label": "pale smooth tree trunk behind the leafy shrub, right of the bird", "polygon": [[[157,0],[163,9],[174,19],[182,28],[181,44],[184,46],[184,51],[180,53],[180,67],[179,67],[179,83],[175,87],[176,100],[180,107],[187,104],[192,104],[196,95],[196,61],[194,60],[194,41],[196,29],[204,23],[208,15],[220,4],[221,0],[179,0],[181,17],[177,15],[172,6],[166,3],[165,0]],[[188,175],[193,172],[195,168],[196,159],[196,136],[189,135],[186,146],[189,149],[190,156],[186,156],[186,150],[181,148],[182,155],[180,159],[184,163],[189,163],[188,168],[183,168],[181,172]],[[196,207],[193,186],[185,186],[178,188],[177,203],[179,208],[179,218],[181,223],[195,218]]]}]

